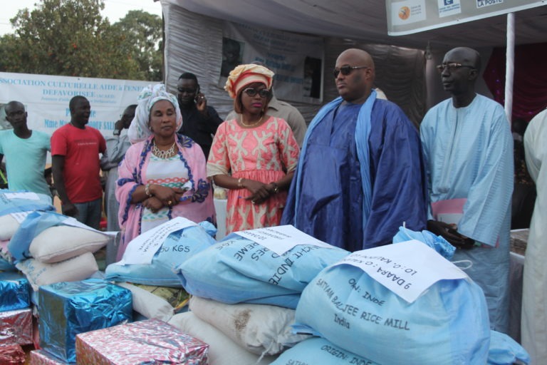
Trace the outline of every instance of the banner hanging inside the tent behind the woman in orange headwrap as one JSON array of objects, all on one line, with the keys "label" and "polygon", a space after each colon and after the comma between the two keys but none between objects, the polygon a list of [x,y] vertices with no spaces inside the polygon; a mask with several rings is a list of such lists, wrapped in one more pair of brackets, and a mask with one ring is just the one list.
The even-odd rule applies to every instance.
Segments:
[{"label": "banner hanging inside the tent behind the woman in orange headwrap", "polygon": [[303,103],[323,101],[323,38],[225,22],[219,86],[241,63],[259,61],[271,69],[276,96]]}]

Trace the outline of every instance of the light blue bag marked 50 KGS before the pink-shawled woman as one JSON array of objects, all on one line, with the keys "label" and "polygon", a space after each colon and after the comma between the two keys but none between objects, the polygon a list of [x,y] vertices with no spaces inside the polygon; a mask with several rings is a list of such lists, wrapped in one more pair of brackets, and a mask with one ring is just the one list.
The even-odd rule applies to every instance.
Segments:
[{"label": "light blue bag marked 50 KGS before the pink-shawled woman", "polygon": [[217,229],[209,222],[172,232],[151,264],[110,264],[106,268],[106,279],[114,282],[157,285],[160,287],[182,287],[176,268],[189,257],[196,255],[216,242],[213,235]]}]

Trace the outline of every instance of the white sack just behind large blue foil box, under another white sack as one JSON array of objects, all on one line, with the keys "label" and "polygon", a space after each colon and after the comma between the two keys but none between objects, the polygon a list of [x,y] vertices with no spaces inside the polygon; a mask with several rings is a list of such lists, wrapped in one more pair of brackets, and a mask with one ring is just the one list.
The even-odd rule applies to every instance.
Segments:
[{"label": "white sack just behind large blue foil box, under another white sack", "polygon": [[88,279],[98,270],[95,257],[90,252],[55,264],[46,264],[37,259],[26,259],[16,264],[16,267],[26,275],[32,289],[36,291],[42,285]]}]

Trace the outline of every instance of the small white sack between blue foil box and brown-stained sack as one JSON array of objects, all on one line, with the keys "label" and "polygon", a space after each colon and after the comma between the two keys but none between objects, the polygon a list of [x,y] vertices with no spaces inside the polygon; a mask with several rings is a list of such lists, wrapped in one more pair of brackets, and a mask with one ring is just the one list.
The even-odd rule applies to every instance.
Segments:
[{"label": "small white sack between blue foil box and brown-stained sack", "polygon": [[133,294],[133,309],[148,319],[161,319],[168,322],[174,314],[174,308],[165,299],[158,297],[151,292],[128,282],[117,282],[116,284],[129,289]]}]

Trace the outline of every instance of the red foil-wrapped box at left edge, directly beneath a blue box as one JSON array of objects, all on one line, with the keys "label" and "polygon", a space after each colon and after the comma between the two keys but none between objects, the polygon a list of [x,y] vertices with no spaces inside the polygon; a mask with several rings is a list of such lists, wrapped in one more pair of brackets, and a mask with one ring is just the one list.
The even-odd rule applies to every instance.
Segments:
[{"label": "red foil-wrapped box at left edge, directly beneath a blue box", "polygon": [[32,344],[32,309],[0,312],[0,345]]}]

